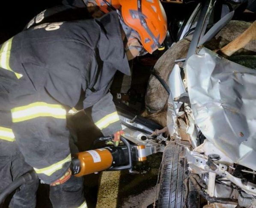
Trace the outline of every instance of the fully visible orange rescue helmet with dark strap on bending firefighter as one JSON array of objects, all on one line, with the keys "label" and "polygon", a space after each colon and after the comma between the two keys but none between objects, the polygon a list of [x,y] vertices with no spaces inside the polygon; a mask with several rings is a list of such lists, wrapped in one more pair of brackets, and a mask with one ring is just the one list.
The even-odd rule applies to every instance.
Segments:
[{"label": "fully visible orange rescue helmet with dark strap on bending firefighter", "polygon": [[119,0],[122,18],[140,35],[144,49],[153,53],[164,42],[167,18],[159,0]]}]

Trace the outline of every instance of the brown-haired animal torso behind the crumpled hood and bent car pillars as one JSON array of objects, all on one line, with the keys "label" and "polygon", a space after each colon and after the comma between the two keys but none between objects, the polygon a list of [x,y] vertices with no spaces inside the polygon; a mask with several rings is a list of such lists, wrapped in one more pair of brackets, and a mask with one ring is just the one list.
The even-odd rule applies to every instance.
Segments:
[{"label": "brown-haired animal torso behind the crumpled hood and bent car pillars", "polygon": [[[229,44],[245,30],[247,30],[252,23],[244,21],[230,21],[218,34],[208,41],[204,46],[210,50],[225,49],[224,46]],[[173,47],[167,50],[163,56],[158,59],[154,69],[158,74],[167,82],[171,70],[174,64],[179,64],[182,67],[182,62],[175,63],[175,60],[186,58],[188,48],[190,45],[191,36],[178,41]],[[224,47],[224,48],[223,48]],[[229,47],[230,50],[230,47]],[[223,50],[225,52],[227,50]],[[255,55],[256,54],[256,41],[250,41],[249,44],[242,46],[241,49],[237,50],[234,55]],[[145,105],[146,111],[143,112],[143,116],[149,117],[155,120],[162,126],[167,126],[166,123],[166,103],[168,99],[167,91],[161,85],[161,83],[151,76],[149,78],[149,85],[146,91]]]}]

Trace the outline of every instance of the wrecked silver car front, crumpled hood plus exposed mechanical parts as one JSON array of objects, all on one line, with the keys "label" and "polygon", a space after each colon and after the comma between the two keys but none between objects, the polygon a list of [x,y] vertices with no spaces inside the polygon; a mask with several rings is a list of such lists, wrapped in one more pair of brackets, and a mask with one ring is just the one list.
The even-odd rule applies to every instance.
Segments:
[{"label": "wrecked silver car front, crumpled hood plus exposed mechanical parts", "polygon": [[[256,71],[206,48],[192,55],[184,70],[184,79],[175,70],[170,74],[167,111],[169,146],[176,149],[174,155],[182,146],[188,168],[183,184],[191,182],[212,206],[251,208],[256,205]],[[188,93],[177,93],[175,74],[176,85],[183,84]]]}]

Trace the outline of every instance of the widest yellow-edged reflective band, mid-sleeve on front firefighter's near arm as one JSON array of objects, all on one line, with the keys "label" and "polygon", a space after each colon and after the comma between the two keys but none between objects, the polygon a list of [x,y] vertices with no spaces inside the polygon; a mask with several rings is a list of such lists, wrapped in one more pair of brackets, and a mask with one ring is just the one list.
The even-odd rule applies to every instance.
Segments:
[{"label": "widest yellow-edged reflective band, mid-sleeve on front firefighter's near arm", "polygon": [[31,103],[29,105],[12,108],[12,122],[21,122],[36,117],[66,118],[66,110],[62,105],[48,104],[44,102]]}]

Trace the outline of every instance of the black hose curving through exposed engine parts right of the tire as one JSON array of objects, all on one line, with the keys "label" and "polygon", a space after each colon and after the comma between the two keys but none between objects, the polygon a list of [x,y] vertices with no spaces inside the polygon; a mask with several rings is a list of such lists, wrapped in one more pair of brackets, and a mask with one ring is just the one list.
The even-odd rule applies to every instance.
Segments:
[{"label": "black hose curving through exposed engine parts right of the tire", "polygon": [[199,186],[199,184],[196,182],[196,179],[193,177],[193,175],[189,176],[189,179],[195,186],[196,190],[199,192],[199,194],[205,198],[208,202],[211,203],[220,203],[220,204],[231,204],[231,205],[237,205],[238,200],[237,199],[231,199],[231,198],[220,198],[220,197],[211,197],[207,193],[205,193],[202,188]]}]

